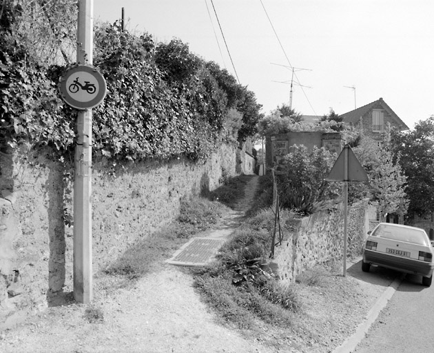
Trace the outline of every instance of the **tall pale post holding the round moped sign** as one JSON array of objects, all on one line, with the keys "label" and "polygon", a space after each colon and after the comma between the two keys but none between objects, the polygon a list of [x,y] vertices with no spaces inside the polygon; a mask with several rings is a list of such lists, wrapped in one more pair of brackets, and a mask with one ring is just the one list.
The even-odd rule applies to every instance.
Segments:
[{"label": "tall pale post holding the round moped sign", "polygon": [[[92,65],[93,0],[79,0],[77,63]],[[92,109],[79,110],[74,179],[74,299],[92,301]]]}]

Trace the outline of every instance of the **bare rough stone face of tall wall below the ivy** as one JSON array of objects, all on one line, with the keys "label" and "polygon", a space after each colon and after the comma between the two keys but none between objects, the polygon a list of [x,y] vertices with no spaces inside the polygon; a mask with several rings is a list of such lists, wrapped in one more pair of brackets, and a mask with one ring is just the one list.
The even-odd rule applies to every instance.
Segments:
[{"label": "bare rough stone face of tall wall below the ivy", "polygon": [[[49,150],[0,154],[0,321],[14,307],[45,307],[72,292],[72,185]],[[242,170],[241,170],[242,172]],[[206,163],[187,159],[92,165],[93,270],[177,216],[180,201],[236,174],[236,148]],[[3,317],[1,316],[3,312]],[[5,314],[6,312],[6,314]]]}]

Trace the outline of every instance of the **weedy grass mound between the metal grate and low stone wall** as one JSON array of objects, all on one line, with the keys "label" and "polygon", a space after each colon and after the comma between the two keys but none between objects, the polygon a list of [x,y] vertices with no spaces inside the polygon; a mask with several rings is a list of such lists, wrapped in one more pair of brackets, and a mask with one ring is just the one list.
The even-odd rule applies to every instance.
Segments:
[{"label": "weedy grass mound between the metal grate and low stone wall", "polygon": [[[260,217],[260,216],[259,216]],[[225,321],[240,329],[288,327],[301,304],[294,286],[283,288],[269,267],[270,234],[250,220],[236,230],[214,266],[194,270],[194,285]]]}]

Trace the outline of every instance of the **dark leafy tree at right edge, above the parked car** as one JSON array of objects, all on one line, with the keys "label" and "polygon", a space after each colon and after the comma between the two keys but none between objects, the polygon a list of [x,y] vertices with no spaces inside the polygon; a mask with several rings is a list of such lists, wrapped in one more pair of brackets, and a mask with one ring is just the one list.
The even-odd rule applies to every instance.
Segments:
[{"label": "dark leafy tree at right edge, above the parked car", "polygon": [[391,131],[391,148],[407,178],[409,217],[434,210],[434,116],[419,121],[410,132]]}]

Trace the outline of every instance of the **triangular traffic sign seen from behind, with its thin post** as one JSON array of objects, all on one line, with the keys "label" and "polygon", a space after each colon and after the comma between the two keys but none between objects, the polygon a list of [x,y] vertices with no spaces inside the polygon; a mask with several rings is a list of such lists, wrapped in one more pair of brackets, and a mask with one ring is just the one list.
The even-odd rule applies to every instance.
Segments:
[{"label": "triangular traffic sign seen from behind, with its thin post", "polygon": [[349,181],[369,181],[368,175],[358,161],[351,147],[347,144],[340,152],[338,159],[330,170],[327,181],[344,182],[344,276],[347,276],[347,219],[348,219],[348,182]]}]

